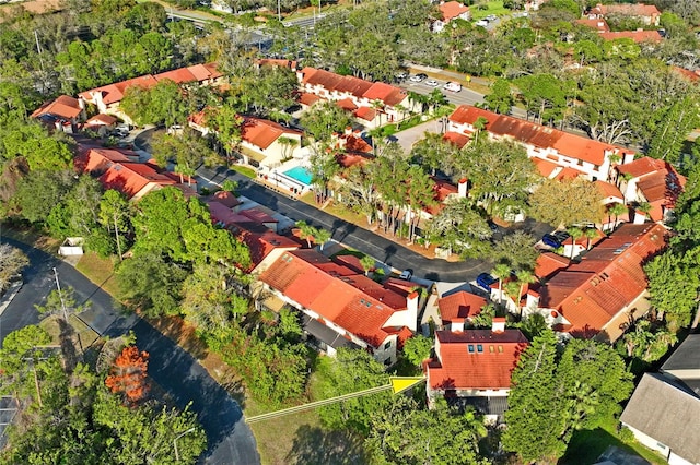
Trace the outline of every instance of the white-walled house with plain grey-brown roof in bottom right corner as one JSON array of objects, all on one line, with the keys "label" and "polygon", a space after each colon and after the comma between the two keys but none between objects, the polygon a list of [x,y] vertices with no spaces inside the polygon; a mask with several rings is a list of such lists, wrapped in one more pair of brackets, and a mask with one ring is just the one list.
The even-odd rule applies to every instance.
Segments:
[{"label": "white-walled house with plain grey-brown roof in bottom right corner", "polygon": [[[697,358],[696,358],[697,360]],[[700,365],[696,366],[700,368]],[[660,373],[644,373],[620,422],[674,465],[700,464],[700,397]]]}]

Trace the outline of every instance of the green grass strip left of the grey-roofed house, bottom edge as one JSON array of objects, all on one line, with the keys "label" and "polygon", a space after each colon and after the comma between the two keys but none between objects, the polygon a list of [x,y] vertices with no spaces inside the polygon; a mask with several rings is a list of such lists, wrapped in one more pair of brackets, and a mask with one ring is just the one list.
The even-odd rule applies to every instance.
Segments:
[{"label": "green grass strip left of the grey-roofed house, bottom edge", "polygon": [[616,433],[616,422],[611,420],[603,428],[580,430],[573,433],[567,454],[560,465],[593,464],[610,446],[616,445],[627,452],[641,455],[652,464],[665,464],[664,458],[639,442],[625,443]]}]

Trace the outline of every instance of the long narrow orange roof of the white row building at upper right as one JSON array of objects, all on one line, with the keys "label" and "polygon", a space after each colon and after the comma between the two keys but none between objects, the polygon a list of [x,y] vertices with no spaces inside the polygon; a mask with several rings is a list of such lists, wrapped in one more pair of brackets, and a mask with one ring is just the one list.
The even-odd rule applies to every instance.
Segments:
[{"label": "long narrow orange roof of the white row building at upper right", "polygon": [[506,115],[498,115],[470,105],[460,105],[457,107],[450,116],[450,121],[457,124],[466,123],[474,126],[480,117],[486,118],[486,130],[493,134],[508,135],[521,143],[530,144],[540,148],[551,147],[562,155],[588,162],[597,166],[603,165],[605,162],[605,153],[607,151],[623,151],[623,148],[615,145],[570,134],[558,129]]}]

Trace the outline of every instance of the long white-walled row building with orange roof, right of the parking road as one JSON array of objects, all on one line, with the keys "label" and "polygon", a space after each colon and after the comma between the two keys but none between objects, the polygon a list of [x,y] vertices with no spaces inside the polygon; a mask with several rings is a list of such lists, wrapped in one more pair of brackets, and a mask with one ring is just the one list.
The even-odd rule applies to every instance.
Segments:
[{"label": "long white-walled row building with orange roof, right of the parking road", "polygon": [[533,159],[549,162],[581,174],[591,181],[607,181],[617,163],[629,163],[634,154],[617,145],[606,144],[532,121],[498,115],[470,105],[460,105],[451,116],[447,131],[470,136],[475,123],[486,119],[485,131],[494,140],[520,143]]}]

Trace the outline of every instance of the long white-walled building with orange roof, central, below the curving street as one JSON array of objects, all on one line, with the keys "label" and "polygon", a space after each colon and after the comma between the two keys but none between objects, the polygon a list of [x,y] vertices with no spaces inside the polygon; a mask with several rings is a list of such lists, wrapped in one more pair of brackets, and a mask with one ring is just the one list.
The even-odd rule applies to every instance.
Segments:
[{"label": "long white-walled building with orange roof, central, below the curving street", "polygon": [[259,282],[262,295],[277,296],[315,323],[311,339],[331,356],[351,343],[393,365],[418,324],[419,293],[384,287],[312,249],[282,253]]}]

